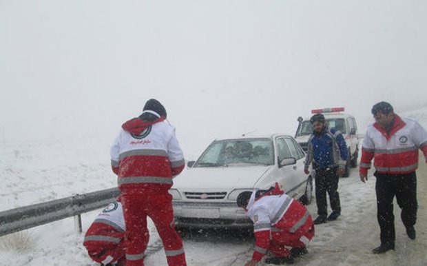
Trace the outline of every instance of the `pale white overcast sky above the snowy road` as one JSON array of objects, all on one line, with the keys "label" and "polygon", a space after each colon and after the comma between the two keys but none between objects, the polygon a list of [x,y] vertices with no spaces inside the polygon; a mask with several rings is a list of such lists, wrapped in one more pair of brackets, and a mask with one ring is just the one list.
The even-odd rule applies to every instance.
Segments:
[{"label": "pale white overcast sky above the snowy road", "polygon": [[3,141],[112,142],[147,99],[184,150],[313,108],[427,104],[427,1],[0,0]]}]

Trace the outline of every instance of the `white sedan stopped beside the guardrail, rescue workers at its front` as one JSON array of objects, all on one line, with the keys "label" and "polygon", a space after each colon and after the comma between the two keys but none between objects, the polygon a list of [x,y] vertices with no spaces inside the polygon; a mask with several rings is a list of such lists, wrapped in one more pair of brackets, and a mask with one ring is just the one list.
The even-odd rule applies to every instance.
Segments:
[{"label": "white sedan stopped beside the guardrail, rescue workers at its front", "polygon": [[244,191],[267,190],[277,182],[289,196],[311,203],[313,178],[304,174],[304,151],[292,136],[273,134],[217,139],[174,178],[178,227],[247,227],[237,206]]}]

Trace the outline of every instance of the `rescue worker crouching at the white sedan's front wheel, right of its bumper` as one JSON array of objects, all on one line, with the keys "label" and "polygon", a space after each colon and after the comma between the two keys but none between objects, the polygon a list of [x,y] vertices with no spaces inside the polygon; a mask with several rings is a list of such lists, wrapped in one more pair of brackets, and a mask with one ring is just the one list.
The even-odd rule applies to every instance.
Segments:
[{"label": "rescue worker crouching at the white sedan's front wheel, right of its bumper", "polygon": [[280,190],[278,183],[269,190],[242,192],[237,203],[253,221],[256,237],[252,260],[246,266],[256,265],[267,252],[274,256],[265,263],[277,265],[293,264],[293,258],[307,253],[306,245],[314,236],[313,219],[306,207]]}]

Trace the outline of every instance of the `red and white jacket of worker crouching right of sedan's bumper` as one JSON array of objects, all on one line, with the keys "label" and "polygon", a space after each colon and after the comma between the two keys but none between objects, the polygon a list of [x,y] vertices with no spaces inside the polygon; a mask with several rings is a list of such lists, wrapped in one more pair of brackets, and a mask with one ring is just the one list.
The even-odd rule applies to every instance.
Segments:
[{"label": "red and white jacket of worker crouching right of sedan's bumper", "polygon": [[[309,212],[295,199],[287,196],[276,184],[271,192],[256,197],[253,192],[247,205],[256,237],[252,259],[260,261],[270,247],[271,232],[296,233],[306,227]],[[305,228],[304,228],[305,229]]]}]

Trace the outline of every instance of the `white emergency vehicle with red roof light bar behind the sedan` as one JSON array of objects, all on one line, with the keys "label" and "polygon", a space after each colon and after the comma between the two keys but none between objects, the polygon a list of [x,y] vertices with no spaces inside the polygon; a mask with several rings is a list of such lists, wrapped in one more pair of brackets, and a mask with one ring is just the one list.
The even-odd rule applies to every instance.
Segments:
[{"label": "white emergency vehicle with red roof light bar behind the sedan", "polygon": [[[347,177],[350,174],[348,168],[357,167],[359,138],[357,136],[356,120],[351,114],[346,114],[344,112],[344,108],[324,108],[311,110],[311,114],[320,113],[324,115],[329,128],[334,127],[335,129],[340,130],[347,143],[348,161],[346,165],[346,172],[344,174],[344,177]],[[310,117],[298,117],[298,129],[295,133],[295,139],[301,145],[304,151],[307,150],[307,141],[309,140],[310,134],[313,133],[313,125],[310,123]]]}]

